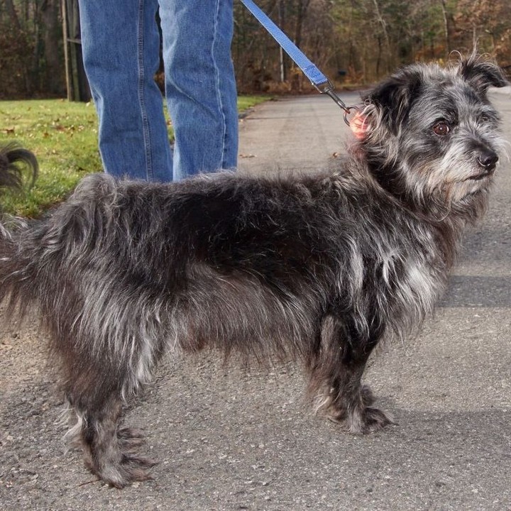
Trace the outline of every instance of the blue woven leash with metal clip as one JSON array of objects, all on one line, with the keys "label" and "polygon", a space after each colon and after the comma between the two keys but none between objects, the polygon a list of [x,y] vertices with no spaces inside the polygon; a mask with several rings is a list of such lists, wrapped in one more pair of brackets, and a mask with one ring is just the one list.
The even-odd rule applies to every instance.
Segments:
[{"label": "blue woven leash with metal clip", "polygon": [[334,84],[319,70],[317,65],[314,65],[307,56],[290,40],[290,38],[283,33],[280,28],[270,20],[270,18],[254,4],[252,0],[241,0],[241,3],[246,6],[248,11],[251,11],[253,16],[259,23],[270,33],[270,35],[282,46],[282,50],[289,55],[295,64],[300,67],[304,75],[311,81],[312,85],[317,89],[320,94],[326,94],[331,97],[341,109],[344,110],[344,122],[348,124],[348,115],[351,114],[356,106],[346,106],[344,101],[336,94]]}]

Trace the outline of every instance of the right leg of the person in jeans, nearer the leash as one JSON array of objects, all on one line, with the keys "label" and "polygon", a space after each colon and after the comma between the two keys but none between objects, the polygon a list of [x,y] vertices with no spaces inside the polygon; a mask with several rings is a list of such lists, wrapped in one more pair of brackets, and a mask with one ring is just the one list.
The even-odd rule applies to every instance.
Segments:
[{"label": "right leg of the person in jeans, nearer the leash", "polygon": [[159,0],[174,180],[236,167],[232,0]]}]

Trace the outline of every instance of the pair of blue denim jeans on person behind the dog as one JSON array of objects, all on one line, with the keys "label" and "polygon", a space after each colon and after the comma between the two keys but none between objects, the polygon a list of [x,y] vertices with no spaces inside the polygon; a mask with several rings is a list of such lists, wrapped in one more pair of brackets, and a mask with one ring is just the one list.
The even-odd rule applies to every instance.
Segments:
[{"label": "pair of blue denim jeans on person behind the dog", "polygon": [[[173,152],[153,79],[158,7]],[[165,182],[236,167],[233,0],[79,0],[79,9],[106,172]]]}]

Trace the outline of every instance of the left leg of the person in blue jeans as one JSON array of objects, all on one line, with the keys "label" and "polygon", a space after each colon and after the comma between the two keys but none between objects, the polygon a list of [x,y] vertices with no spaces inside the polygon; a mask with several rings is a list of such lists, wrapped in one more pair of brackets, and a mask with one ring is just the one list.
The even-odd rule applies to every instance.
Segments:
[{"label": "left leg of the person in blue jeans", "polygon": [[157,0],[80,0],[84,66],[99,116],[106,172],[172,179],[163,99],[154,82],[160,36]]}]

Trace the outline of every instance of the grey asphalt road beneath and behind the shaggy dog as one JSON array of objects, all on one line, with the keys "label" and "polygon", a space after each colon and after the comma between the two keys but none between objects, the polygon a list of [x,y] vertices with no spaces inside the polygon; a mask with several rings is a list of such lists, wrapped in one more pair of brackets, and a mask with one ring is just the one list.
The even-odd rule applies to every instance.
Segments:
[{"label": "grey asphalt road beneath and behind the shaggy dog", "polygon": [[[508,140],[510,94],[492,94]],[[271,101],[242,121],[241,171],[313,170],[347,136],[326,97]],[[160,461],[154,480],[107,488],[63,454],[43,335],[0,321],[0,509],[511,510],[510,170],[435,317],[373,358],[366,381],[398,422],[378,434],[314,416],[292,363],[179,356],[126,416]]]}]

